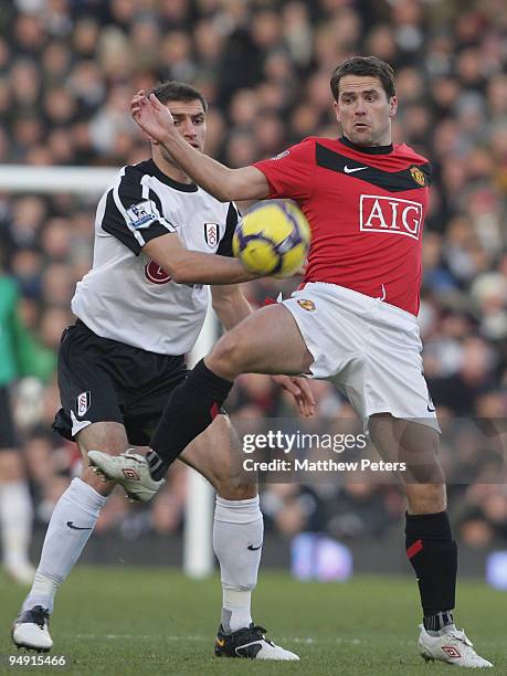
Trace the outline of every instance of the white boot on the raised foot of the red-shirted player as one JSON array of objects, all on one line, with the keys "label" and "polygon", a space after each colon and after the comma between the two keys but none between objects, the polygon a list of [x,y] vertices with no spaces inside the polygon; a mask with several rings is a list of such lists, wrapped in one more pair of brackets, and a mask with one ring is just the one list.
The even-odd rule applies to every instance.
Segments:
[{"label": "white boot on the raised foot of the red-shirted player", "polygon": [[127,496],[138,503],[148,503],[166,483],[166,479],[155,482],[145,456],[131,448],[120,455],[88,451],[88,461],[97,474],[123,486]]}]

